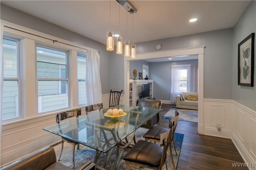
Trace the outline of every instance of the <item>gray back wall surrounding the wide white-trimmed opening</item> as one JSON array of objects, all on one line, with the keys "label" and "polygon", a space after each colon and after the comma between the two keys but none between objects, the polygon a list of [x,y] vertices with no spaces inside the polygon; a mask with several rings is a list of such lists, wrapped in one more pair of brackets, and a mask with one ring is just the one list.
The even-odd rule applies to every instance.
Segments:
[{"label": "gray back wall surrounding the wide white-trimmed opening", "polygon": [[[206,46],[204,50],[204,98],[232,99],[233,28],[137,43],[137,53],[157,51],[157,44],[162,45],[161,50]],[[114,52],[111,53],[111,62],[116,65],[116,67],[111,67],[111,73],[116,75],[124,70],[121,58],[123,57]],[[123,74],[120,74],[120,77],[112,77],[112,85],[121,86],[124,81],[123,77]]]}]

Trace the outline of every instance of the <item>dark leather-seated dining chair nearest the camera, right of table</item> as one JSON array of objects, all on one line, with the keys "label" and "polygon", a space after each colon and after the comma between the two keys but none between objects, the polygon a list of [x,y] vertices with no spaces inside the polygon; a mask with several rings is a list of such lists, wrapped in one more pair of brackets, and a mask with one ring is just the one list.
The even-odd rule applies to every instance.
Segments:
[{"label": "dark leather-seated dining chair nearest the camera, right of table", "polygon": [[[172,124],[170,124],[172,125]],[[160,144],[152,143],[146,140],[139,140],[124,156],[126,169],[130,170],[131,165],[138,165],[150,169],[161,170],[166,164],[167,149],[173,136],[173,129],[160,134]]]}]

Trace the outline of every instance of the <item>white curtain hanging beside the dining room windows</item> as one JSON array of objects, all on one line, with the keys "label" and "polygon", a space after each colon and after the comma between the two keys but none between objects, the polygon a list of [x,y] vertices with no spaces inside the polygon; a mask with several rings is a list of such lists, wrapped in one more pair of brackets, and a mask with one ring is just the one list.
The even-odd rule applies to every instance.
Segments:
[{"label": "white curtain hanging beside the dining room windows", "polygon": [[97,51],[87,49],[86,57],[86,96],[87,105],[102,103],[100,84],[100,55]]}]

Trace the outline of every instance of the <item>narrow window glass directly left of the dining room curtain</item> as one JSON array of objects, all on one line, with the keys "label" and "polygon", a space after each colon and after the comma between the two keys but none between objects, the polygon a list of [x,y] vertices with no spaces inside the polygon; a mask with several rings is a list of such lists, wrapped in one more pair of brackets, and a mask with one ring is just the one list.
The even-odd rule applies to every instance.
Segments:
[{"label": "narrow window glass directly left of the dining room curtain", "polygon": [[78,105],[86,105],[86,53],[77,55]]}]

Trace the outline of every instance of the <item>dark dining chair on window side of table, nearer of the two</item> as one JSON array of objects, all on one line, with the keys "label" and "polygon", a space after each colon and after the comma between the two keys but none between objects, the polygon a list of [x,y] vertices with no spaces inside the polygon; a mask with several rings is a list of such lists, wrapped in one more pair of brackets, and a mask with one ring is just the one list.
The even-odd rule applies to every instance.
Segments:
[{"label": "dark dining chair on window side of table, nearer of the two", "polygon": [[[81,115],[81,109],[74,109],[74,110],[58,113],[56,115],[56,123],[59,124],[61,121],[64,121],[65,119],[68,119],[68,118],[71,118],[71,117],[78,118],[78,116],[80,116],[80,115]],[[64,137],[61,137],[61,138],[62,138],[62,141],[61,141],[61,151],[60,151],[60,156],[59,156],[58,161],[60,160],[60,157],[61,157],[62,152],[63,152],[64,142],[72,144],[73,145],[73,147],[72,147],[72,162],[73,162],[73,168],[75,168],[74,152],[75,152],[75,146],[76,145],[77,145],[77,149],[79,149],[79,143],[74,141],[74,140],[68,139],[68,138],[64,138]]]}]

